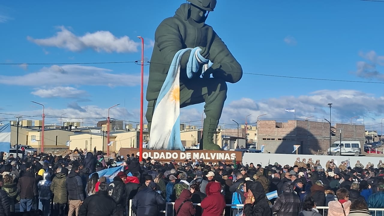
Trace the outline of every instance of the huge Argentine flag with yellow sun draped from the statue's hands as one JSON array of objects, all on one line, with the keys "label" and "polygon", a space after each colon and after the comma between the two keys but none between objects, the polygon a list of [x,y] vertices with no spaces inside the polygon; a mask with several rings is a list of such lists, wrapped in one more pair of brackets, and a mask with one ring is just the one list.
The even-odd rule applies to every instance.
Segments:
[{"label": "huge Argentine flag with yellow sun draped from the statue's hands", "polygon": [[180,61],[182,55],[189,50],[191,50],[187,63],[189,78],[199,70],[200,65],[209,63],[209,60],[200,55],[199,47],[185,48],[175,54],[157,97],[147,149],[185,151],[180,138]]}]

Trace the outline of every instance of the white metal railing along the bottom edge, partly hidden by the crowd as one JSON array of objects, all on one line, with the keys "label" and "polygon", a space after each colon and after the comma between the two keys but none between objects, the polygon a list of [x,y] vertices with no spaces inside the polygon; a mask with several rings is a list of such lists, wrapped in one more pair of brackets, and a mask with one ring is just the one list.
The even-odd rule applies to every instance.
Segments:
[{"label": "white metal railing along the bottom edge, partly hidden by the crowd", "polygon": [[[165,209],[161,209],[159,211],[159,213],[164,214],[164,216],[175,216],[174,204],[175,203],[166,203]],[[194,206],[200,206],[200,203],[193,203],[193,205]],[[132,199],[129,200],[129,206],[132,207]],[[240,213],[242,211],[244,205],[243,204],[237,204],[237,205],[226,204],[226,206],[231,207],[230,209],[226,208],[227,211],[230,210],[230,211],[236,211],[237,213]],[[235,207],[235,208],[233,208],[233,207]],[[316,209],[318,209],[318,211],[321,215],[327,216],[329,207],[328,206],[316,206]],[[384,216],[384,208],[370,208],[369,211],[371,211],[372,216]],[[202,210],[201,210],[201,212],[202,212]],[[136,216],[136,214],[134,213],[134,211],[132,211],[131,208],[128,209],[128,213],[129,214],[127,216]],[[199,216],[199,215],[201,215],[201,213],[195,214],[195,216]],[[232,212],[230,215],[231,216],[233,215]]]}]

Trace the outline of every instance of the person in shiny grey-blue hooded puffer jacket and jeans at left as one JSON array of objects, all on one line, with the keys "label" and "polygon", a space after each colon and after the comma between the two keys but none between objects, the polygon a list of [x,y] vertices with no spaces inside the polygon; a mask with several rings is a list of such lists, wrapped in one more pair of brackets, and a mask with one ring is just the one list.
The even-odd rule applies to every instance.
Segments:
[{"label": "person in shiny grey-blue hooded puffer jacket and jeans at left", "polygon": [[51,207],[51,174],[48,172],[43,173],[43,180],[39,181],[37,186],[39,188],[39,209],[43,211],[44,216],[48,216]]}]

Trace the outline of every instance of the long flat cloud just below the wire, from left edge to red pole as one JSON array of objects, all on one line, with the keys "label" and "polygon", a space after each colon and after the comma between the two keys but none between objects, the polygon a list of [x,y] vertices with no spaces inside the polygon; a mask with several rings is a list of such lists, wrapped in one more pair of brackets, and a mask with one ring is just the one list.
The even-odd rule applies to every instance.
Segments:
[{"label": "long flat cloud just below the wire, from left edge to red pole", "polygon": [[93,66],[52,65],[26,75],[0,75],[0,83],[20,86],[135,86],[140,84],[140,75],[115,74],[112,70]]}]

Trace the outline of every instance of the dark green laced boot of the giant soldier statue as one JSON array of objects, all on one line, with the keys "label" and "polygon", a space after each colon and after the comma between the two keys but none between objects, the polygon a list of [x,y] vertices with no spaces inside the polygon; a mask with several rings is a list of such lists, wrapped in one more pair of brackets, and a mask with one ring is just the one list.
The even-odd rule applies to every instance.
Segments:
[{"label": "dark green laced boot of the giant soldier statue", "polygon": [[204,150],[220,150],[220,146],[216,145],[213,141],[218,120],[212,118],[205,118],[203,126],[203,148]]}]

